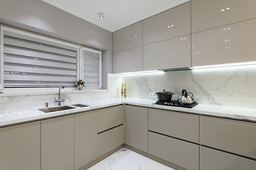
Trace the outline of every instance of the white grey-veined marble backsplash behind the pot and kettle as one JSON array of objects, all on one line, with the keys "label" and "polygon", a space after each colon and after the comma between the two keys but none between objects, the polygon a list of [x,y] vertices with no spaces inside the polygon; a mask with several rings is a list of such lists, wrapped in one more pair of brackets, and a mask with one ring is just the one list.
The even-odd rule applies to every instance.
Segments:
[{"label": "white grey-veined marble backsplash behind the pot and kettle", "polygon": [[166,89],[177,99],[187,89],[201,104],[256,108],[256,66],[123,74],[122,82],[127,84],[128,98],[154,99],[150,93]]}]

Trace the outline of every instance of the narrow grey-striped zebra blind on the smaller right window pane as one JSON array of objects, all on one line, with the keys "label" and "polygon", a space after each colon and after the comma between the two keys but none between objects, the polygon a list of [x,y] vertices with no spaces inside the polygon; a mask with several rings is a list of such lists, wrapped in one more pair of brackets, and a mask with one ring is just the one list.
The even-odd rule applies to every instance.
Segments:
[{"label": "narrow grey-striped zebra blind on the smaller right window pane", "polygon": [[101,88],[101,52],[83,48],[83,78],[89,88]]}]

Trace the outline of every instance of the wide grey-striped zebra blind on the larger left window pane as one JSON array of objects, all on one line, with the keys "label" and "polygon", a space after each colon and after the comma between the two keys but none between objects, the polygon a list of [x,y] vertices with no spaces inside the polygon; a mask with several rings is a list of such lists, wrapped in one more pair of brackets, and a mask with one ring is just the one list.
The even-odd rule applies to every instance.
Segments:
[{"label": "wide grey-striped zebra blind on the larger left window pane", "polygon": [[4,30],[4,87],[74,86],[77,48]]}]

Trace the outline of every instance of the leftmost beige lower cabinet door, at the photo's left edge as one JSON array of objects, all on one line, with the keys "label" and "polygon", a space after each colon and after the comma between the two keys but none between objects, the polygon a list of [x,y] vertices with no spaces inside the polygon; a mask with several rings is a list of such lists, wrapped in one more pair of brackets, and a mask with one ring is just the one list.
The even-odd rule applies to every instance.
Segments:
[{"label": "leftmost beige lower cabinet door, at the photo's left edge", "polygon": [[0,129],[0,169],[40,170],[40,122]]}]

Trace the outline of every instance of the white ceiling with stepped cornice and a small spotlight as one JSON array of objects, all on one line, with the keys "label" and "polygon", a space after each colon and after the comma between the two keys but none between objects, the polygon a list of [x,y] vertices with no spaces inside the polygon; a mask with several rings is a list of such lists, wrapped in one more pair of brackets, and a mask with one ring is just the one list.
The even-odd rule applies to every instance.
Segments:
[{"label": "white ceiling with stepped cornice and a small spotlight", "polygon": [[[42,0],[111,32],[190,0]],[[99,13],[104,18],[99,18]]]}]

